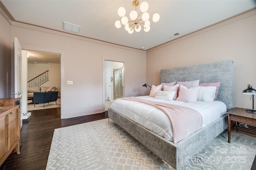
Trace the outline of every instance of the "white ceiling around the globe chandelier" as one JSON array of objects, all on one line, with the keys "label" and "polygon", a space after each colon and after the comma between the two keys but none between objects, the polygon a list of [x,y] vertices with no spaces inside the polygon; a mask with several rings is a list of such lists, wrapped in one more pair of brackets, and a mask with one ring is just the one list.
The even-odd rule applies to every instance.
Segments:
[{"label": "white ceiling around the globe chandelier", "polygon": [[[143,2],[144,0],[140,1]],[[129,34],[116,28],[120,20],[120,6],[129,14],[135,9],[133,0],[1,0],[14,20],[63,30],[63,21],[80,25],[84,37],[144,50],[156,47],[182,35],[189,34],[256,6],[255,0],[146,0],[150,17],[160,14],[160,20],[151,21],[150,31]],[[139,8],[137,11],[140,11]],[[69,32],[69,31],[67,31]],[[173,33],[181,34],[170,38]],[[72,33],[72,32],[69,32]]]}]

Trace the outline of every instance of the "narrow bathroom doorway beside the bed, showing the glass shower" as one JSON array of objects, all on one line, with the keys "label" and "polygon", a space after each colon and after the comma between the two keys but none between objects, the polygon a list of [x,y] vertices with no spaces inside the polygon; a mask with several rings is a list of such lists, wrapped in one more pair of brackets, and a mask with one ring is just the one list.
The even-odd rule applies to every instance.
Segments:
[{"label": "narrow bathroom doorway beside the bed, showing the glass shower", "polygon": [[124,96],[124,63],[104,61],[105,66],[105,111],[112,102]]}]

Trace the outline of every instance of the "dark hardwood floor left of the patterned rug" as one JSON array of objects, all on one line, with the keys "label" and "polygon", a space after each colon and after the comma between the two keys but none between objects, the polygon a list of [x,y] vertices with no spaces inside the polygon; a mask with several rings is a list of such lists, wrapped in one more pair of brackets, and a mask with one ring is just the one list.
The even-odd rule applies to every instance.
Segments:
[{"label": "dark hardwood floor left of the patterned rug", "polygon": [[45,170],[54,129],[108,118],[108,113],[98,113],[60,119],[60,108],[31,111],[21,129],[20,154],[10,154],[0,170]]}]

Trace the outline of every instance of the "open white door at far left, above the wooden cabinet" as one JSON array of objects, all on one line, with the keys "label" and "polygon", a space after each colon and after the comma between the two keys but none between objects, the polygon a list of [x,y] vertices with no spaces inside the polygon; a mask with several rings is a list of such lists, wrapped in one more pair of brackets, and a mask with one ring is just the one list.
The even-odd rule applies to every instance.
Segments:
[{"label": "open white door at far left, above the wooden cabinet", "polygon": [[22,48],[14,37],[14,98],[20,98],[20,128],[22,127]]}]

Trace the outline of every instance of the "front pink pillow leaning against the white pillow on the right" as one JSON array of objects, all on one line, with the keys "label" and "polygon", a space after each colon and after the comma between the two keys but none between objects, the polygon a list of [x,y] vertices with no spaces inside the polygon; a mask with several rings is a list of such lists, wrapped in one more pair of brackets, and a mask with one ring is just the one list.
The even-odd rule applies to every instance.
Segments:
[{"label": "front pink pillow leaning against the white pillow on the right", "polygon": [[185,86],[180,84],[180,93],[176,100],[182,102],[196,103],[199,88],[200,86],[186,88]]}]

